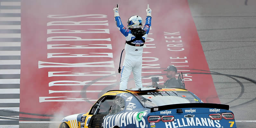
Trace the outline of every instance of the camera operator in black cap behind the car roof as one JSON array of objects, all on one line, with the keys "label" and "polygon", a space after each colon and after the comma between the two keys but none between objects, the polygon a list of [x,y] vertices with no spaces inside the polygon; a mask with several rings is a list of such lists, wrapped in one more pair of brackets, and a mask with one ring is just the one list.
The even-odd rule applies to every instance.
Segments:
[{"label": "camera operator in black cap behind the car roof", "polygon": [[[178,81],[175,78],[175,75],[177,73],[177,68],[170,65],[167,67],[166,70],[163,71],[167,71],[166,77],[169,78],[167,81],[165,81],[163,84],[158,84],[159,88],[182,88],[182,82]],[[153,82],[152,81],[152,86],[157,85],[157,82]]]}]

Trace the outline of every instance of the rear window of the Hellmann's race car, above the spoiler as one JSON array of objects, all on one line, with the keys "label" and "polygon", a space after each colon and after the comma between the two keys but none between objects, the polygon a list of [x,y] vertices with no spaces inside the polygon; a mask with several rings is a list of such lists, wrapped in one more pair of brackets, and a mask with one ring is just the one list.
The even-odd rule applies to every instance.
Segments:
[{"label": "rear window of the Hellmann's race car, above the spoiler", "polygon": [[145,107],[157,107],[163,105],[182,104],[182,103],[200,103],[188,91],[160,91],[137,93],[137,97]]}]

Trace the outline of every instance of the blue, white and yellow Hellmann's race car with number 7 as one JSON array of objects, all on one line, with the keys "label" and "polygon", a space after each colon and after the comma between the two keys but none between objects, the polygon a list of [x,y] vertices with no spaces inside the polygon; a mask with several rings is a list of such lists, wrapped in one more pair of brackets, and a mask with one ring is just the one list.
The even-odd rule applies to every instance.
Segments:
[{"label": "blue, white and yellow Hellmann's race car with number 7", "polygon": [[181,88],[110,90],[87,113],[66,116],[59,128],[236,128],[228,105],[203,103]]}]

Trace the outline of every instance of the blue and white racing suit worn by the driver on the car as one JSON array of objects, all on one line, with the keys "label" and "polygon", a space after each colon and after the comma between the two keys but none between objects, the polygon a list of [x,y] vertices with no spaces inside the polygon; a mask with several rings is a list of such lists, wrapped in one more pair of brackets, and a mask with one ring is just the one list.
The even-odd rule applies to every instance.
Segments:
[{"label": "blue and white racing suit worn by the driver on the car", "polygon": [[[132,35],[131,30],[124,27],[122,24],[120,17],[115,17],[115,22],[118,29],[121,33],[125,36],[126,41],[130,41],[135,38]],[[151,26],[151,17],[146,17],[146,23],[144,25],[143,30],[146,31],[146,34],[142,37],[145,41],[147,39],[147,35]],[[136,88],[142,88],[142,81],[141,81],[141,69],[142,69],[142,52],[143,52],[143,41],[135,40],[132,42],[135,46],[125,44],[125,58],[123,62],[123,67],[121,68],[121,78],[120,78],[120,87],[119,90],[126,90],[127,83],[131,72],[133,72],[134,81]]]}]

